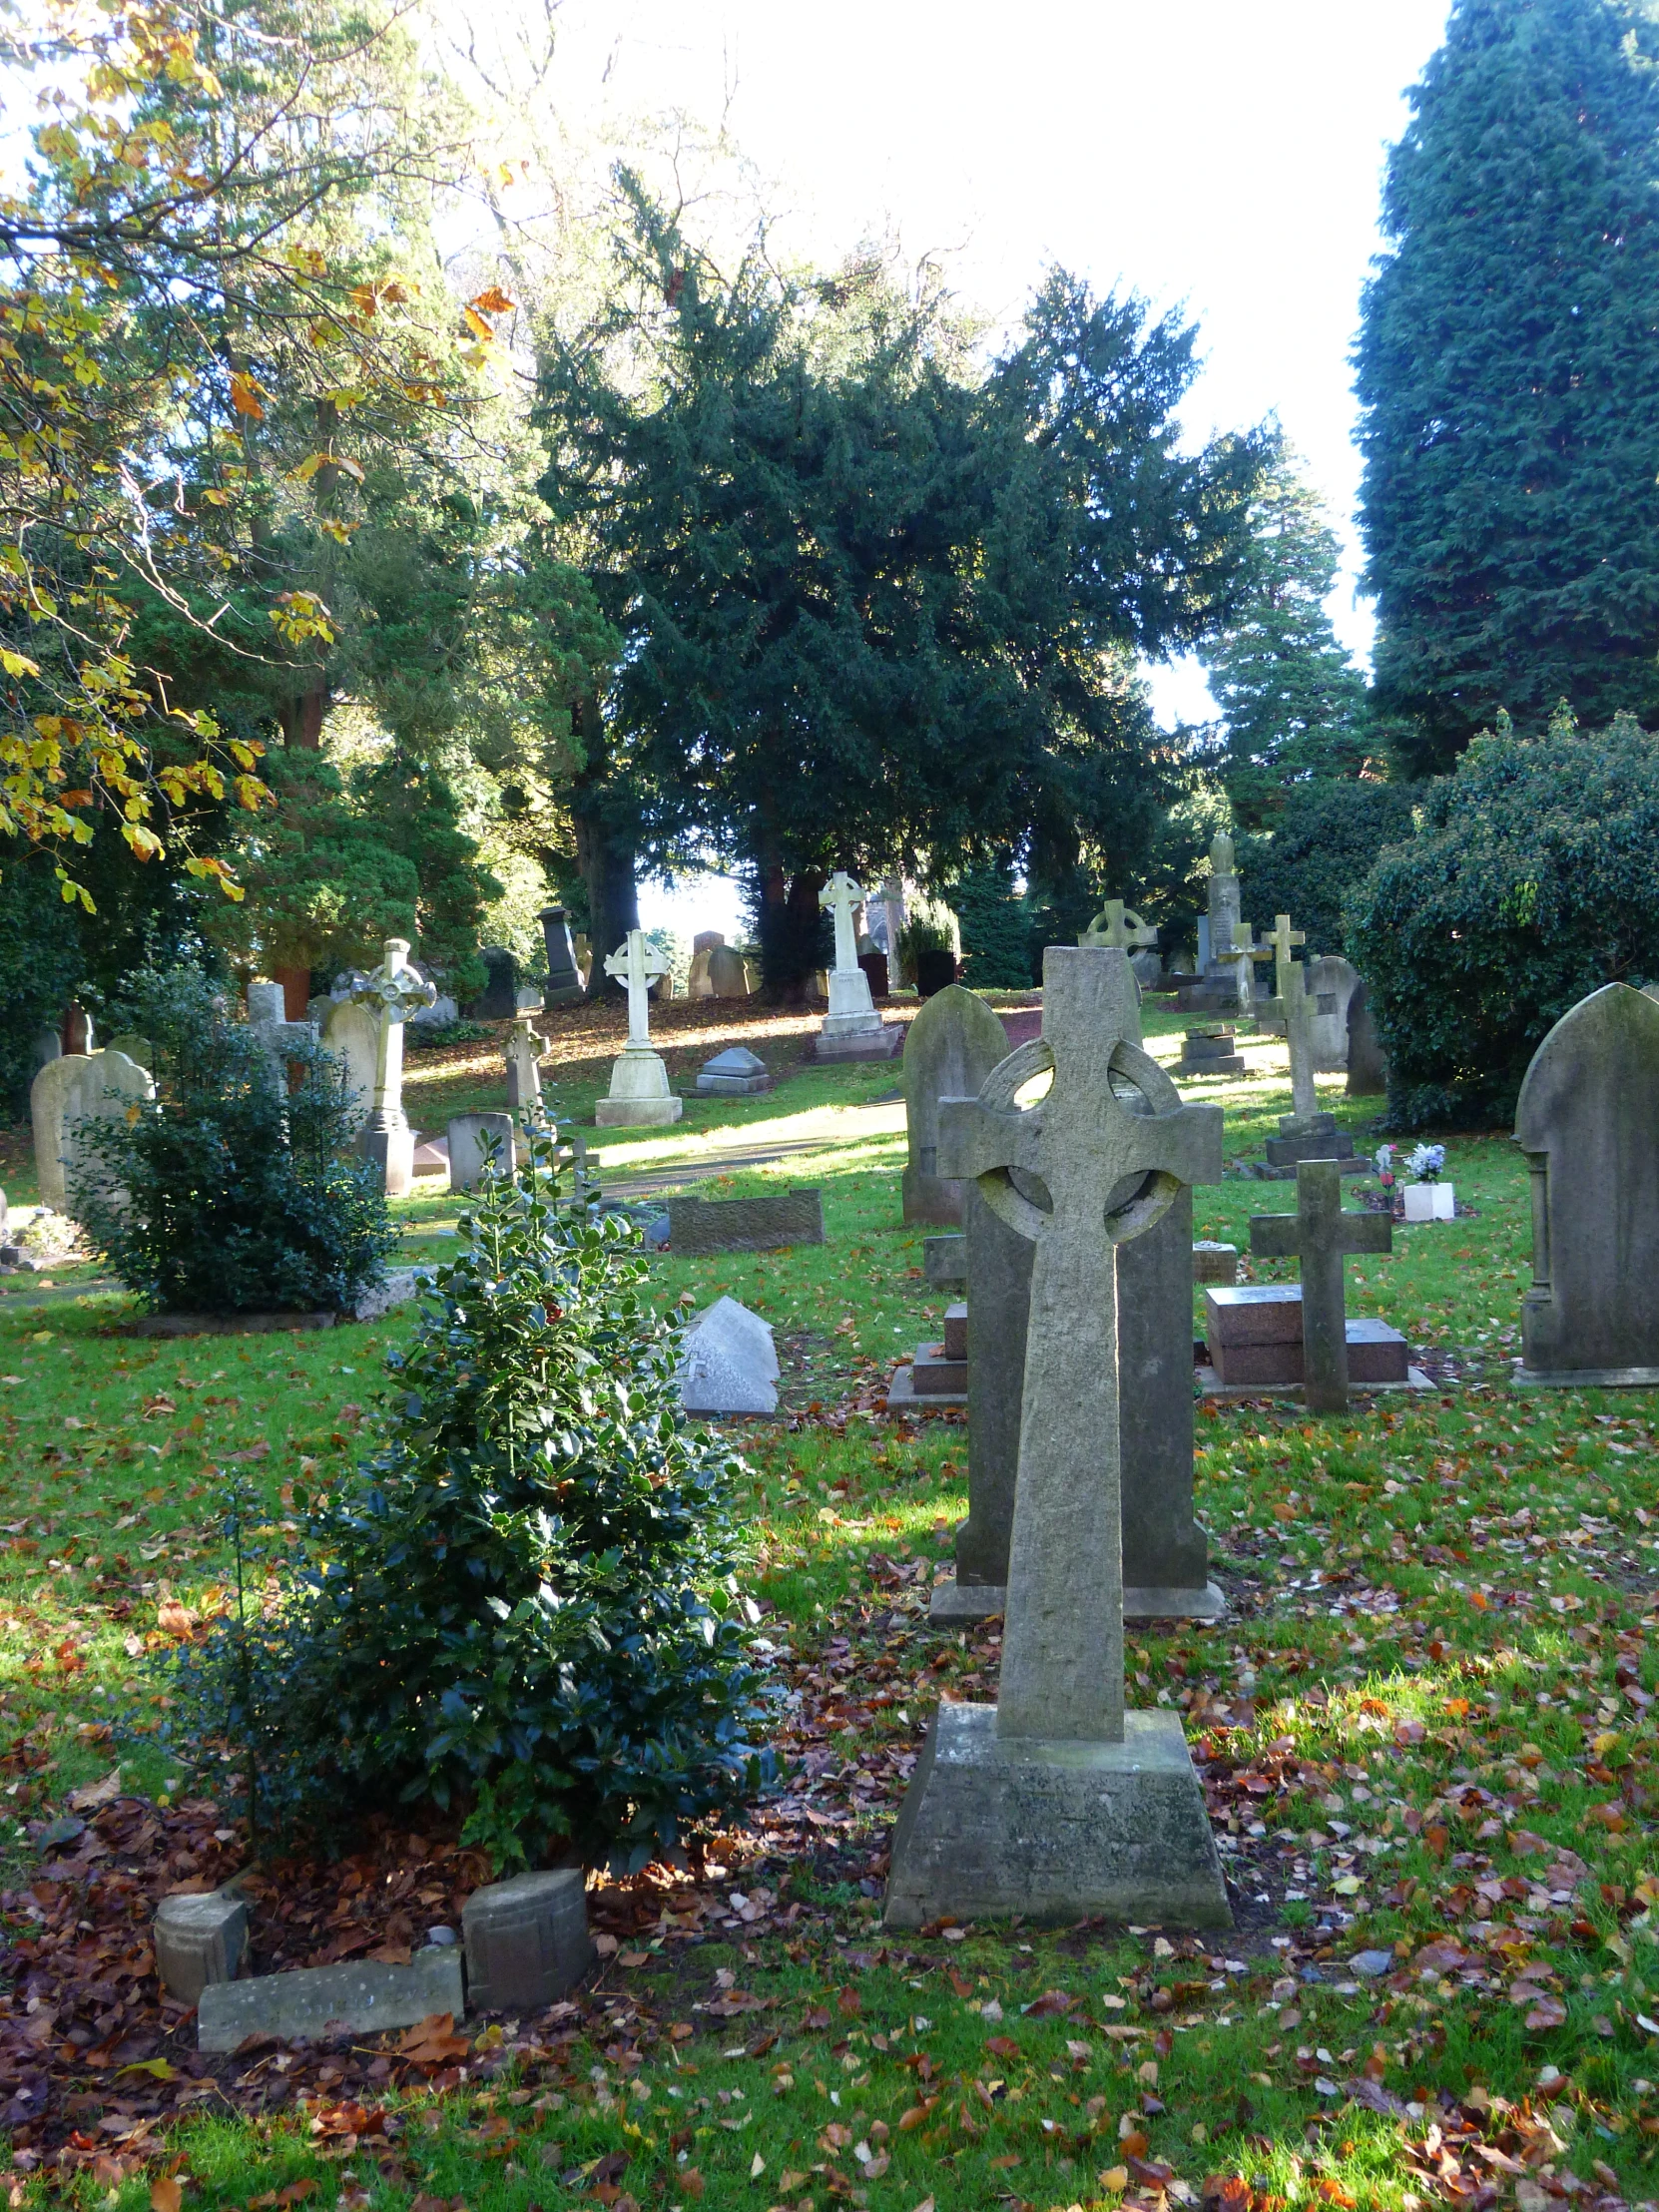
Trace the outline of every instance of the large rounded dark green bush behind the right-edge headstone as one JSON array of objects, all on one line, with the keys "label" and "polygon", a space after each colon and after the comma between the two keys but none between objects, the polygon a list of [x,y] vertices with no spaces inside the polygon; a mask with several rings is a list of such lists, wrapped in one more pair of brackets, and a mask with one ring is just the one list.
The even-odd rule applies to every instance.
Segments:
[{"label": "large rounded dark green bush behind the right-edge headstone", "polygon": [[[1345,909],[1398,1128],[1504,1124],[1548,1029],[1604,982],[1659,978],[1659,739],[1509,723],[1422,787],[1422,830]],[[1245,885],[1248,891],[1248,885]]]}]

